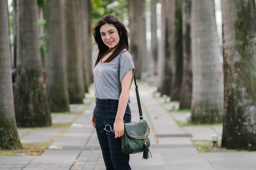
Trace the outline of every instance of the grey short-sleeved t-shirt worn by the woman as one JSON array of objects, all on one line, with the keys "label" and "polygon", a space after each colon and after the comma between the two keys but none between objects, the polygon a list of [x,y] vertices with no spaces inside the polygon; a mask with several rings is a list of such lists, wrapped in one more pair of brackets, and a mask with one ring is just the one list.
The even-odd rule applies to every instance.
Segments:
[{"label": "grey short-sleeved t-shirt worn by the woman", "polygon": [[[121,58],[120,58],[121,57]],[[124,49],[111,62],[101,63],[94,68],[94,93],[98,99],[115,99],[119,100],[119,80],[118,80],[118,62],[120,59],[120,82],[133,70],[134,64],[131,54]],[[131,83],[133,78],[131,79]],[[130,87],[131,88],[131,87]],[[129,97],[130,102],[130,97]]]}]

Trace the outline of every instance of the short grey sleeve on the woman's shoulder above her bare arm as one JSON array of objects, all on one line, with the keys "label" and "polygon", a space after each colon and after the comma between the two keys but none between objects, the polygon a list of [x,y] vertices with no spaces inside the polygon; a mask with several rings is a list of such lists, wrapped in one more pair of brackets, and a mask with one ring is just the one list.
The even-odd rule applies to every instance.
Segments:
[{"label": "short grey sleeve on the woman's shoulder above her bare arm", "polygon": [[131,54],[128,51],[123,52],[120,56],[120,82],[122,82],[122,79],[129,73],[129,71],[133,70],[134,75],[134,69],[135,67]]}]

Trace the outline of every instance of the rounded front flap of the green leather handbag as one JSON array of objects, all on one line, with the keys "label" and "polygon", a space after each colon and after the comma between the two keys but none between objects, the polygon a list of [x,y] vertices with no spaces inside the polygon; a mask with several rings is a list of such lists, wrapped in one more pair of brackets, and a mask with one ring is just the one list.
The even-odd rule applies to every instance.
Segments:
[{"label": "rounded front flap of the green leather handbag", "polygon": [[128,136],[134,139],[141,139],[149,135],[149,126],[146,120],[139,122],[125,123],[125,131]]}]

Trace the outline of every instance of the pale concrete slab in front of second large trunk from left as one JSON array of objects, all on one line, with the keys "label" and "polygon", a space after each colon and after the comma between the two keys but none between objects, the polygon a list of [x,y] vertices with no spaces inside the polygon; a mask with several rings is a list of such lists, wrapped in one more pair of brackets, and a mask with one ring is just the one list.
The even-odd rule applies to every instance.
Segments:
[{"label": "pale concrete slab in front of second large trunk from left", "polygon": [[49,142],[54,138],[61,129],[51,128],[51,129],[38,129],[34,133],[30,134],[21,142]]}]

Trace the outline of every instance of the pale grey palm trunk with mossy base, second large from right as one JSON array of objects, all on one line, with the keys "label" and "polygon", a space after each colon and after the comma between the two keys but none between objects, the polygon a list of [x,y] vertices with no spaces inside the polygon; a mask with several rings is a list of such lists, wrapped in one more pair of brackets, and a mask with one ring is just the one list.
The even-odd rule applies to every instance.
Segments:
[{"label": "pale grey palm trunk with mossy base, second large from right", "polygon": [[223,118],[223,59],[218,45],[213,0],[192,0],[192,122]]}]

